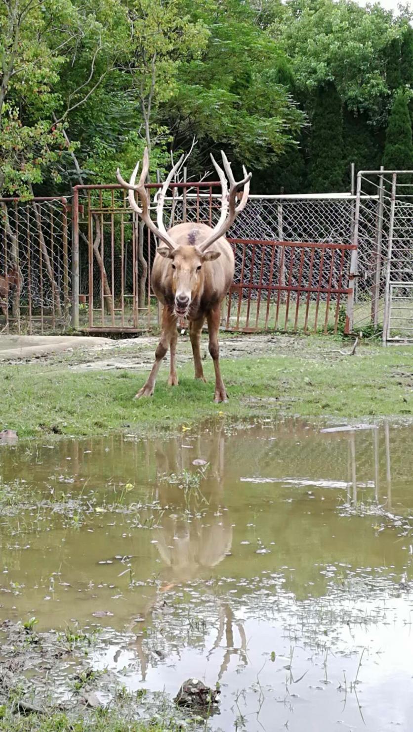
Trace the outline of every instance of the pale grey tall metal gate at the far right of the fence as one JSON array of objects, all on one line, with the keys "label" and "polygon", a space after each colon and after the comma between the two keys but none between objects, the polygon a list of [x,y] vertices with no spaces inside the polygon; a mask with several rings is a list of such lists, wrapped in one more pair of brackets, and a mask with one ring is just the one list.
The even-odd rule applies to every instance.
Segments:
[{"label": "pale grey tall metal gate at the far right of the fence", "polygon": [[360,171],[348,315],[355,331],[413,339],[413,171]]}]

